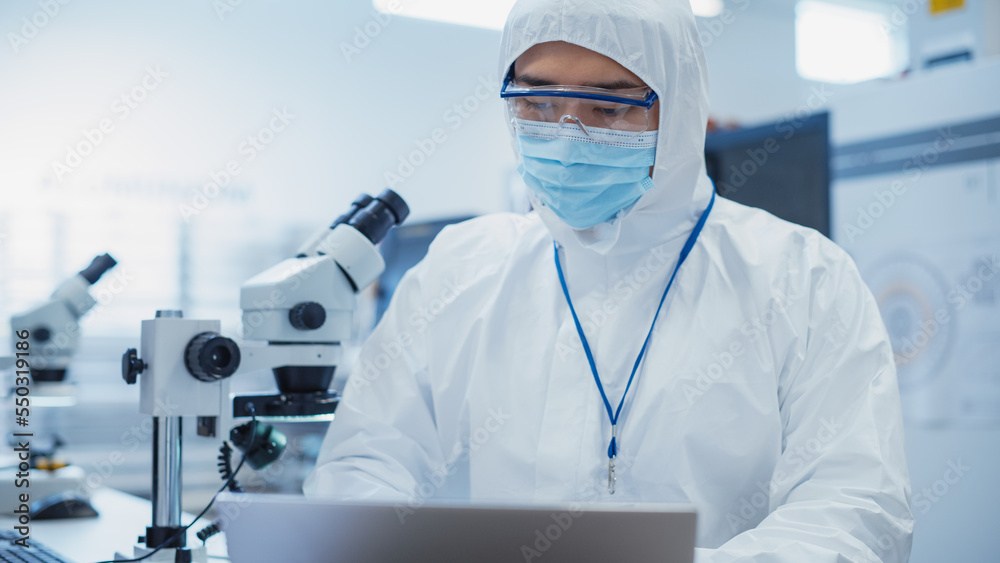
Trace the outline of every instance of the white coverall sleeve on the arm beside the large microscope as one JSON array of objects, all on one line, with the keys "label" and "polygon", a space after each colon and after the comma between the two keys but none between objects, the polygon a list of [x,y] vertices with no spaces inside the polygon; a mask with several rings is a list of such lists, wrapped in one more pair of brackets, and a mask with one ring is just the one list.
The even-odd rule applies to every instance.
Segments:
[{"label": "white coverall sleeve on the arm beside the large microscope", "polygon": [[427,382],[424,333],[407,323],[421,302],[418,272],[400,281],[364,344],[317,459],[307,496],[413,499],[443,463]]}]

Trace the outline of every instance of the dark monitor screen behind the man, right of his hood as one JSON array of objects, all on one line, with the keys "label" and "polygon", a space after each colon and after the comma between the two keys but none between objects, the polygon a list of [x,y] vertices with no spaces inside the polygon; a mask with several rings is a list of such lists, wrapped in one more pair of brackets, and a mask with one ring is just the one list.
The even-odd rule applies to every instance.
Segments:
[{"label": "dark monitor screen behind the man, right of his hood", "polygon": [[829,117],[709,133],[705,165],[716,192],[830,236]]}]

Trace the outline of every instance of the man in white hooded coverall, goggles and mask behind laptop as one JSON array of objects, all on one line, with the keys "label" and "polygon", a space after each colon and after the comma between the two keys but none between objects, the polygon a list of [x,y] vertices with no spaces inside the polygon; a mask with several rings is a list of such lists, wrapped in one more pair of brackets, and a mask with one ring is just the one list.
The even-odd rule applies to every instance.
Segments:
[{"label": "man in white hooded coverall, goggles and mask behind laptop", "polygon": [[713,197],[688,0],[522,0],[500,71],[536,211],[403,278],[306,493],[689,503],[699,562],[906,561],[875,301],[823,236]]}]

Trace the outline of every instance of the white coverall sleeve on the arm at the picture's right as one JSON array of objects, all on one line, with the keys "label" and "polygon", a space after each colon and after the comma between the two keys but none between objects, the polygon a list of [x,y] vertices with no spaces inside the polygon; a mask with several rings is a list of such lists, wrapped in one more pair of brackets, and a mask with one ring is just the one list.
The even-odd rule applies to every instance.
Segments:
[{"label": "white coverall sleeve on the arm at the picture's right", "polygon": [[697,563],[909,559],[913,517],[892,350],[871,292],[832,246],[804,276],[802,306],[790,313],[803,328],[778,378],[783,439],[769,514],[718,549],[698,549]]}]

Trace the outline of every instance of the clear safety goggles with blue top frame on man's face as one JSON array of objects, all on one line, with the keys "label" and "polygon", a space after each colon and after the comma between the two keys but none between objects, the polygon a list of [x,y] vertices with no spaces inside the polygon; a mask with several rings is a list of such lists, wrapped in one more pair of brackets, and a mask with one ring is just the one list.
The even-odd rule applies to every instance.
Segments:
[{"label": "clear safety goggles with blue top frame on man's face", "polygon": [[[500,89],[514,127],[519,122],[558,124],[560,127],[533,128],[532,136],[555,138],[562,127],[572,126],[589,135],[589,128],[623,132],[626,138],[655,128],[651,109],[656,93],[651,88],[607,90],[587,86],[521,86],[511,68]],[[539,133],[544,131],[544,133]]]}]

